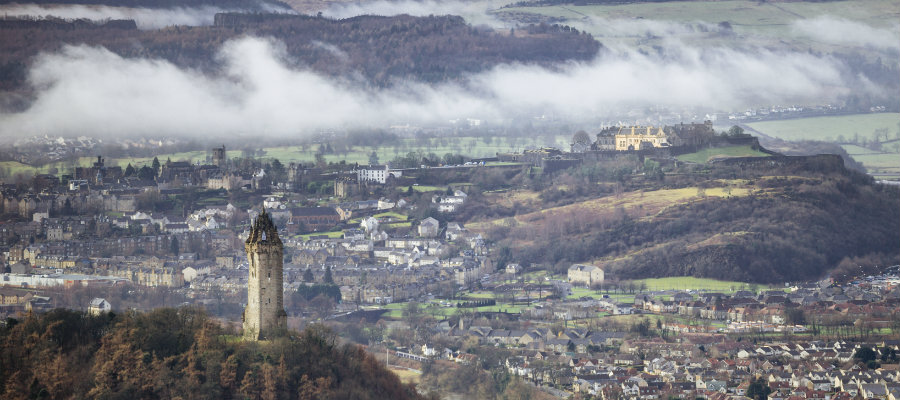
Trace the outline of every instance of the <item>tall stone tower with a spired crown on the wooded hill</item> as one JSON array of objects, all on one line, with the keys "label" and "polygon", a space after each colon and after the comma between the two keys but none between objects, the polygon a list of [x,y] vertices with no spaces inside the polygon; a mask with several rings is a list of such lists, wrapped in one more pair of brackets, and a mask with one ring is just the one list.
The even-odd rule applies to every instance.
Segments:
[{"label": "tall stone tower with a spired crown on the wooded hill", "polygon": [[287,313],[282,287],[284,246],[265,208],[253,222],[244,249],[250,261],[244,340],[270,339],[287,329]]}]

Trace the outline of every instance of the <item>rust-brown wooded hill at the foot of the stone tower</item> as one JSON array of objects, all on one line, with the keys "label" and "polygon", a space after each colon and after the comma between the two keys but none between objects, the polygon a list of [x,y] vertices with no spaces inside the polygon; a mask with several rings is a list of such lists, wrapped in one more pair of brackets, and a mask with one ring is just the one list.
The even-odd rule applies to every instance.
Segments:
[{"label": "rust-brown wooded hill at the foot of the stone tower", "polygon": [[327,328],[291,333],[242,342],[191,307],[28,314],[0,325],[0,398],[419,398]]}]

